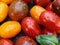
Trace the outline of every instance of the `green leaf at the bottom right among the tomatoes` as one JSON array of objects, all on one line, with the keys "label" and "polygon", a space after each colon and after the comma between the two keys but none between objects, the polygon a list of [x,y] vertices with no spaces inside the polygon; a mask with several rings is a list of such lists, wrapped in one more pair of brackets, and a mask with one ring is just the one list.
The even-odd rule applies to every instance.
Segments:
[{"label": "green leaf at the bottom right among the tomatoes", "polygon": [[39,35],[36,37],[36,40],[41,45],[56,45],[56,44],[58,44],[58,39],[52,35]]}]

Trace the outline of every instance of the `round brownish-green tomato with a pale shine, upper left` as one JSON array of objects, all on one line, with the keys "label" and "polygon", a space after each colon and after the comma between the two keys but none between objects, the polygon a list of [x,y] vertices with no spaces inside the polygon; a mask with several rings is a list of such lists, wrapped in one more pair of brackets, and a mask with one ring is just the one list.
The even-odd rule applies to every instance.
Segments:
[{"label": "round brownish-green tomato with a pale shine, upper left", "polygon": [[28,14],[28,5],[21,0],[15,0],[9,6],[9,17],[12,20],[20,21],[22,18],[26,17]]}]

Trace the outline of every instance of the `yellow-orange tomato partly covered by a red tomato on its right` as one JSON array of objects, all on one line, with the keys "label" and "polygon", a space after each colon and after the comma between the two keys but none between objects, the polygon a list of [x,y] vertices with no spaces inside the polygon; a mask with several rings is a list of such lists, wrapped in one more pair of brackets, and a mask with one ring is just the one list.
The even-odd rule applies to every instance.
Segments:
[{"label": "yellow-orange tomato partly covered by a red tomato on its right", "polygon": [[45,9],[43,7],[35,5],[31,8],[30,14],[38,23],[40,23],[39,16],[43,11],[45,11]]}]

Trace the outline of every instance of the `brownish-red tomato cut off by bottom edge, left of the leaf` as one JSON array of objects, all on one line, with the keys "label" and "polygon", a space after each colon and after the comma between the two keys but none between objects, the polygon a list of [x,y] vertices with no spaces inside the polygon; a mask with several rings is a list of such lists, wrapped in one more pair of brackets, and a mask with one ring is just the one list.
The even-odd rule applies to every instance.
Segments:
[{"label": "brownish-red tomato cut off by bottom edge, left of the leaf", "polygon": [[37,43],[28,36],[22,36],[17,39],[16,45],[37,45]]}]

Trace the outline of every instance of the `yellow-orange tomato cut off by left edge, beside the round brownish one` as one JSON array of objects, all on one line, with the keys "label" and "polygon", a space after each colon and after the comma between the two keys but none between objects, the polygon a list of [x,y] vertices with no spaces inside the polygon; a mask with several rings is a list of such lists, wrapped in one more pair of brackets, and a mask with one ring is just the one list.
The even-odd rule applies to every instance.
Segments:
[{"label": "yellow-orange tomato cut off by left edge, beside the round brownish one", "polygon": [[0,2],[0,22],[4,21],[8,14],[8,5]]}]

